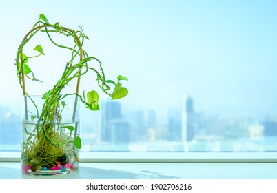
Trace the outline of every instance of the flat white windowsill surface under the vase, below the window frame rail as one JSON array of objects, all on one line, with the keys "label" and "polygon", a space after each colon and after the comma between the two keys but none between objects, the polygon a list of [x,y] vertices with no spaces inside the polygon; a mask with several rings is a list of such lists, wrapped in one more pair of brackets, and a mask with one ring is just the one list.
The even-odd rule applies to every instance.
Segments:
[{"label": "flat white windowsill surface under the vase, below the window frame rail", "polygon": [[0,163],[0,179],[277,179],[277,163],[80,163],[62,176],[28,176]]}]

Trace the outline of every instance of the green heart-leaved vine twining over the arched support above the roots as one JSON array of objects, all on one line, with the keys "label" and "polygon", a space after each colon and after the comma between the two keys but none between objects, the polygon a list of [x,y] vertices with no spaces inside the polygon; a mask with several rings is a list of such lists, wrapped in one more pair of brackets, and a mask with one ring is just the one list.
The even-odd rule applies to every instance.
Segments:
[{"label": "green heart-leaved vine twining over the arched support above the roots", "polygon": [[[46,36],[54,46],[70,50],[71,52],[71,58],[69,59],[69,61],[67,61],[61,78],[57,81],[57,83],[54,84],[52,89],[43,94],[42,99],[44,99],[45,102],[40,114],[37,105],[32,100],[32,96],[26,91],[25,79],[27,78],[32,81],[41,82],[39,79],[37,79],[37,77],[34,76],[34,72],[31,70],[28,63],[30,59],[40,57],[45,54],[41,45],[35,46],[34,51],[36,51],[37,54],[35,54],[34,56],[26,56],[23,53],[23,48],[25,47],[25,45],[27,45],[30,39],[34,38],[38,32],[43,32],[44,34],[46,34]],[[71,37],[74,40],[74,45],[72,47],[69,47],[57,43],[57,41],[54,41],[54,39],[52,39],[52,33],[59,33],[62,36]],[[52,137],[54,127],[53,123],[59,123],[59,121],[61,121],[61,113],[63,112],[63,108],[66,105],[63,99],[68,96],[76,96],[76,100],[80,99],[85,107],[89,108],[90,110],[100,109],[98,92],[92,90],[90,92],[87,92],[86,96],[85,92],[83,92],[83,96],[79,94],[80,79],[88,72],[94,72],[99,88],[101,88],[102,92],[110,96],[111,99],[121,99],[128,93],[127,88],[123,87],[121,83],[121,81],[128,81],[127,77],[119,75],[117,77],[117,81],[112,81],[110,79],[107,80],[105,78],[105,72],[103,70],[101,61],[99,61],[99,59],[96,59],[96,57],[90,56],[88,52],[83,50],[83,43],[85,42],[85,40],[88,40],[88,37],[83,32],[83,28],[80,27],[80,30],[72,30],[70,28],[60,26],[59,23],[51,24],[49,23],[45,15],[40,14],[37,23],[35,23],[33,28],[25,35],[21,44],[19,45],[15,61],[17,65],[17,77],[19,79],[19,84],[23,90],[23,96],[25,99],[25,111],[28,111],[28,104],[26,102],[27,99],[30,99],[30,101],[32,101],[33,105],[37,109],[36,112],[32,112],[32,115],[30,117],[25,117],[25,119],[37,120],[37,123],[39,124],[36,130],[34,130],[32,133],[29,132],[28,134],[30,134],[30,137],[36,136],[39,143],[41,143],[41,141],[43,141],[43,143],[47,141],[48,144],[54,147],[59,147],[67,143],[74,143],[76,148],[81,148],[81,139],[79,136],[76,136],[76,130],[72,126],[63,127],[70,131],[70,135],[67,138],[61,137],[59,140],[57,140],[57,138],[54,139]],[[76,60],[78,61],[76,62]],[[90,65],[91,61],[96,61],[96,63],[98,64],[98,69],[94,68],[94,65]],[[67,85],[70,85],[70,83],[75,79],[76,92],[61,94],[63,88],[65,88]],[[113,87],[112,90],[111,86]],[[75,111],[76,106],[74,107],[74,113]],[[74,119],[75,115],[73,115],[72,121],[74,121]],[[74,130],[75,133],[73,134]],[[73,135],[74,140],[72,141]],[[24,148],[26,147],[23,146],[23,149]]]}]

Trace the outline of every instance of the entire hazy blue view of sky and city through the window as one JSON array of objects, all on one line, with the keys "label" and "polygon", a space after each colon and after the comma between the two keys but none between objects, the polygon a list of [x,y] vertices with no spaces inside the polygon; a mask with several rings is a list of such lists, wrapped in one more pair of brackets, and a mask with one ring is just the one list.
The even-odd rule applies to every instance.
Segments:
[{"label": "entire hazy blue view of sky and city through the window", "polygon": [[[0,6],[0,150],[21,148],[21,95],[14,59],[45,14],[79,29],[107,79],[130,81],[125,99],[101,94],[100,111],[81,108],[84,152],[276,152],[276,1],[3,1]],[[68,43],[72,39],[59,37]],[[38,38],[45,56],[28,63],[44,94],[68,52]],[[29,46],[29,45],[28,45]],[[31,63],[32,62],[32,63]],[[98,90],[93,75],[82,90]]]}]

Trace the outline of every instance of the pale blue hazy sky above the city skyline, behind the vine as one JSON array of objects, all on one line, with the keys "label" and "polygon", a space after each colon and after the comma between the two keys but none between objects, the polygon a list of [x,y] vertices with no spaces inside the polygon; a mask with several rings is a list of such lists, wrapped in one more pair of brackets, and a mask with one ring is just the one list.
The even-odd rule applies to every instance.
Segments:
[{"label": "pale blue hazy sky above the city skyline, behind the vine", "polygon": [[[83,26],[85,50],[102,61],[107,77],[130,79],[125,109],[167,112],[190,95],[199,112],[276,114],[276,8],[277,1],[250,0],[1,2],[1,104],[20,99],[15,54],[43,13],[50,23]],[[47,76],[68,59],[43,48],[37,65]],[[44,68],[49,63],[54,72]]]}]

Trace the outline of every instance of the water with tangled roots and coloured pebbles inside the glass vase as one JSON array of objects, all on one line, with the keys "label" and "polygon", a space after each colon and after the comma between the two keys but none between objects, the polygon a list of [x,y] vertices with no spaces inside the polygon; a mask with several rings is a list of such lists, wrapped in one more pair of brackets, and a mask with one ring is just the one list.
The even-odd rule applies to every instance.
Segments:
[{"label": "water with tangled roots and coloured pebbles inside the glass vase", "polygon": [[21,167],[24,174],[61,175],[79,169],[79,122],[24,122]]}]

